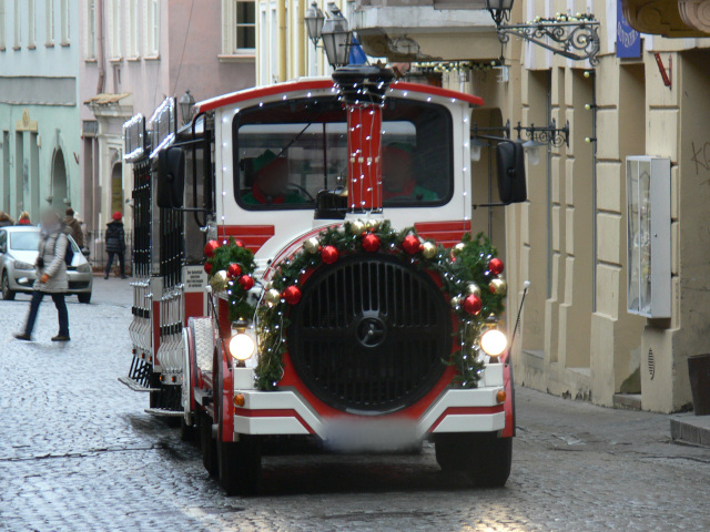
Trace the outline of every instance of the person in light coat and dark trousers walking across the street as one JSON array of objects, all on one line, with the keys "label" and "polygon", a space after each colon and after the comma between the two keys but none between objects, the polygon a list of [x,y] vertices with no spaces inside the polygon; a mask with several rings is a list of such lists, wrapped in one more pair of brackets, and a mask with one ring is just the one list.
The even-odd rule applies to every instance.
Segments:
[{"label": "person in light coat and dark trousers walking across the street", "polygon": [[14,337],[19,340],[30,341],[32,339],[32,329],[37,320],[37,314],[40,304],[45,294],[49,294],[57,307],[59,315],[59,334],[52,337],[52,341],[69,341],[69,314],[67,313],[67,303],[64,301],[64,293],[69,288],[67,279],[67,263],[64,256],[67,254],[69,239],[64,224],[59,214],[49,211],[42,216],[42,225],[40,228],[40,241],[38,244],[39,256],[34,265],[37,280],[32,287],[32,300],[30,301],[30,311],[27,316],[24,332],[18,332]]}]

